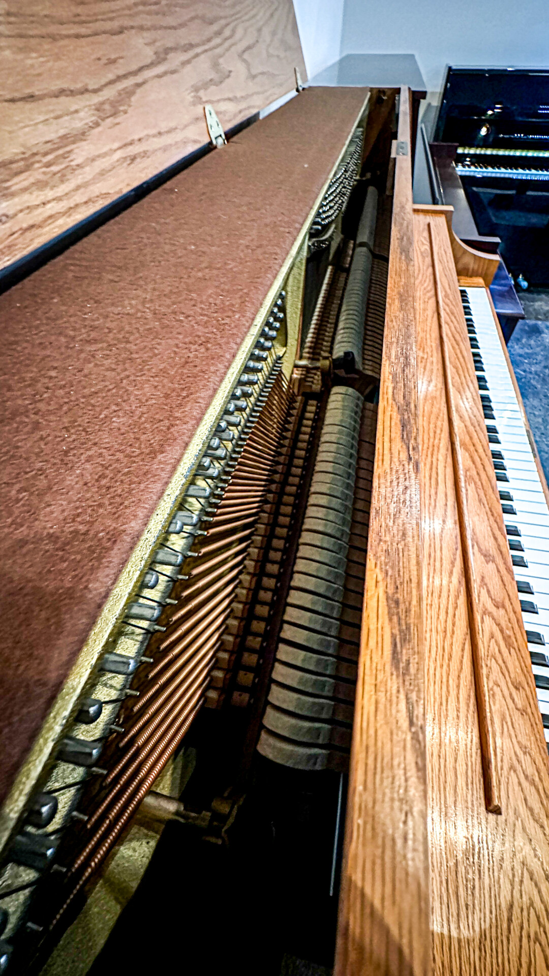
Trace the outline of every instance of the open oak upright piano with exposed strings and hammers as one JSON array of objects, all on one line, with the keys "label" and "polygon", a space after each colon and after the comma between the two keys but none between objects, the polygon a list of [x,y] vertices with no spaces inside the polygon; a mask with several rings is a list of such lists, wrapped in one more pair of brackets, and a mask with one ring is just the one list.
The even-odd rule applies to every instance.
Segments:
[{"label": "open oak upright piano with exposed strings and hammers", "polygon": [[410,117],[307,89],[0,298],[1,971],[549,971],[549,495]]}]

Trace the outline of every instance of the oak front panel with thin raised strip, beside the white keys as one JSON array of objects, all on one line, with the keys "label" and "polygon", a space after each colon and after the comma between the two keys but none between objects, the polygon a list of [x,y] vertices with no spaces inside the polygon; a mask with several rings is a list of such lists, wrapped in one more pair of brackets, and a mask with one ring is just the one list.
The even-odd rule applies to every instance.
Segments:
[{"label": "oak front panel with thin raised strip, beside the white keys", "polygon": [[[429,229],[431,224],[431,230]],[[443,295],[501,815],[486,811],[437,284]],[[549,775],[528,648],[443,215],[414,217],[433,972],[549,971]]]}]

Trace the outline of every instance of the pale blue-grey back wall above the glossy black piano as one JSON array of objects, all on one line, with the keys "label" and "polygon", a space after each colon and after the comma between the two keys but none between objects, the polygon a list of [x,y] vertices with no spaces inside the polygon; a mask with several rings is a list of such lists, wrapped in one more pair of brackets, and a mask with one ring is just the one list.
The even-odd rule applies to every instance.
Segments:
[{"label": "pale blue-grey back wall above the glossy black piano", "polygon": [[415,55],[431,92],[445,64],[547,67],[549,0],[345,0],[341,54]]}]

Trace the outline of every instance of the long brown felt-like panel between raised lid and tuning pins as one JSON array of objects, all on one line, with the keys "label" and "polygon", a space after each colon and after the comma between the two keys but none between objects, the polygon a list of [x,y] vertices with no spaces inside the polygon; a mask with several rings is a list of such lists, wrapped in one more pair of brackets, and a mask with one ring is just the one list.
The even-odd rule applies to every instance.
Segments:
[{"label": "long brown felt-like panel between raised lid and tuning pins", "polygon": [[364,98],[306,90],[0,298],[2,796]]}]

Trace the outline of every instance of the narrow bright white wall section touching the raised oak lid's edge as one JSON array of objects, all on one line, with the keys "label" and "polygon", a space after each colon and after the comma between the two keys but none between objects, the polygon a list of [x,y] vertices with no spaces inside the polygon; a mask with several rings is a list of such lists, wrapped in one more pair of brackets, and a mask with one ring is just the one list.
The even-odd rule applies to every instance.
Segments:
[{"label": "narrow bright white wall section touching the raised oak lid's edge", "polygon": [[294,0],[309,78],[340,56],[344,6],[345,0]]}]

